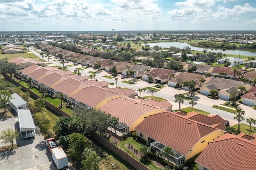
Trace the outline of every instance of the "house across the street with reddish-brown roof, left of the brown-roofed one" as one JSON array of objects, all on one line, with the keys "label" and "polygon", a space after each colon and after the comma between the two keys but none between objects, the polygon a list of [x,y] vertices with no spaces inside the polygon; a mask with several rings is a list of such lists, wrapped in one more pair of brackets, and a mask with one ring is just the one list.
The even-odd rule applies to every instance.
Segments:
[{"label": "house across the street with reddish-brown roof, left of the brown-roofed one", "polygon": [[160,83],[165,83],[168,80],[171,79],[169,77],[170,74],[174,74],[174,70],[169,70],[169,69],[162,69],[162,68],[157,68],[157,69],[151,69],[150,71],[146,72],[146,74],[142,75],[142,80],[148,81],[148,77],[151,76],[153,77],[153,81],[159,81]]}]

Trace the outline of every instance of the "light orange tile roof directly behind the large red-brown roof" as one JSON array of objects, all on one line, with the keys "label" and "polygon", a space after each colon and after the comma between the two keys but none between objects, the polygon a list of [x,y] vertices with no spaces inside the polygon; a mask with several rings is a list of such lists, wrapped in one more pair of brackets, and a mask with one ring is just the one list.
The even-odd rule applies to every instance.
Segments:
[{"label": "light orange tile roof directly behind the large red-brown roof", "polygon": [[[118,107],[113,109],[113,106]],[[110,113],[112,116],[119,117],[119,121],[124,122],[128,126],[132,125],[142,114],[153,111],[154,109],[157,108],[128,97],[112,99],[100,107],[100,110],[106,111],[106,113]]]}]

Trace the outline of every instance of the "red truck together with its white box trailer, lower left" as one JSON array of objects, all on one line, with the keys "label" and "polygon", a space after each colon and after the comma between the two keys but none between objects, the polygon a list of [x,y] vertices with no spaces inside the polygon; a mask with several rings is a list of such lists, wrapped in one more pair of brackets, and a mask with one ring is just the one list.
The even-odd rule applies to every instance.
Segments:
[{"label": "red truck together with its white box trailer, lower left", "polygon": [[46,139],[46,145],[52,154],[52,159],[58,170],[68,166],[68,156],[65,154],[62,147],[58,145],[55,138]]}]

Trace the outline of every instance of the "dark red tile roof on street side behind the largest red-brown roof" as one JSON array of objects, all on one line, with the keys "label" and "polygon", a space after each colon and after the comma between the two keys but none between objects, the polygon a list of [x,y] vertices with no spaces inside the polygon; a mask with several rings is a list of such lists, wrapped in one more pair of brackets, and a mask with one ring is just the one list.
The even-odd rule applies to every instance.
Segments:
[{"label": "dark red tile roof on street side behind the largest red-brown roof", "polygon": [[205,116],[205,115],[201,115],[199,113],[196,112],[190,112],[188,113],[185,118],[194,120],[194,121],[198,121],[201,123],[204,123],[206,125],[210,125],[212,127],[216,127],[219,129],[226,129],[226,121],[224,119],[222,119],[219,115],[212,115],[212,116]]}]

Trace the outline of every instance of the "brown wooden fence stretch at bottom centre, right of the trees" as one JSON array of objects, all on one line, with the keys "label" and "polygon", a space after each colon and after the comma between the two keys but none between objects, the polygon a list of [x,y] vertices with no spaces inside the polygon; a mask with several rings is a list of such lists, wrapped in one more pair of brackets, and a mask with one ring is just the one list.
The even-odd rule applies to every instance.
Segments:
[{"label": "brown wooden fence stretch at bottom centre, right of the trees", "polygon": [[137,170],[150,170],[148,167],[146,167],[144,164],[130,156],[128,153],[123,151],[122,149],[118,148],[116,145],[109,142],[106,138],[100,136],[98,133],[93,132],[91,136],[103,144],[105,147],[109,148],[112,152],[117,154],[120,158],[128,162],[130,165],[132,165]]}]

